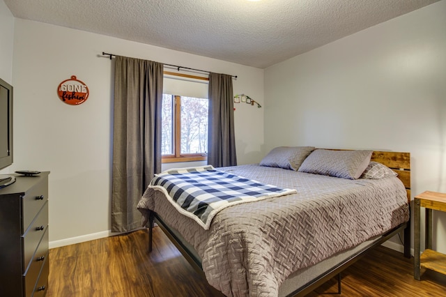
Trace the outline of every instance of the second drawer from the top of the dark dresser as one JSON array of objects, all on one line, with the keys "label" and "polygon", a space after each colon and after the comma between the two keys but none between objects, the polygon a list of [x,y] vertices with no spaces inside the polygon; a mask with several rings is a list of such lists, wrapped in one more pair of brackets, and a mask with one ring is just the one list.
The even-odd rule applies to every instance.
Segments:
[{"label": "second drawer from the top of the dark dresser", "polygon": [[[22,236],[23,241],[23,271],[29,268],[30,261],[33,258],[36,250],[41,249],[42,246],[48,250],[48,202],[46,201],[43,208],[40,210],[35,220],[29,224],[29,228]],[[46,234],[46,235],[45,235]],[[45,236],[46,238],[45,238]],[[39,245],[40,243],[40,245]],[[37,257],[38,254],[36,253]],[[42,255],[40,255],[42,256]],[[40,257],[38,256],[38,257]]]}]

